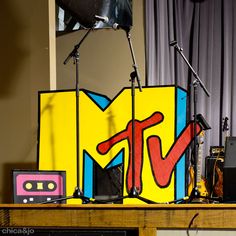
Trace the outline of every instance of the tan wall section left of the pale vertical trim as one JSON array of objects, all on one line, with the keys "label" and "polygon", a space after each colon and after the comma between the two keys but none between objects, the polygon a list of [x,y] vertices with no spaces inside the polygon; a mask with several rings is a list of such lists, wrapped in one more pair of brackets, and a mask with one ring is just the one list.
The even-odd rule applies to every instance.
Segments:
[{"label": "tan wall section left of the pale vertical trim", "polygon": [[11,170],[35,168],[39,90],[49,89],[48,0],[1,0],[0,202]]}]

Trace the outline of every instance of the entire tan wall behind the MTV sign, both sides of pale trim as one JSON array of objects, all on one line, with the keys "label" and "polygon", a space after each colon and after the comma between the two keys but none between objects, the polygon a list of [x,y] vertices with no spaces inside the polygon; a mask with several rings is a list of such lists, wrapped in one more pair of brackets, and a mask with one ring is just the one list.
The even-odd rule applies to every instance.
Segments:
[{"label": "entire tan wall behind the MTV sign, both sides of pale trim", "polygon": [[[53,6],[50,0],[1,1],[0,203],[12,201],[12,169],[36,168],[38,91],[55,88],[56,66],[57,89],[75,87],[75,67],[72,61],[66,66],[63,61],[85,31],[57,38],[54,65],[49,5]],[[144,84],[143,0],[133,2],[131,40]],[[80,87],[113,97],[130,86],[132,64],[123,30],[95,30],[80,48]]]}]

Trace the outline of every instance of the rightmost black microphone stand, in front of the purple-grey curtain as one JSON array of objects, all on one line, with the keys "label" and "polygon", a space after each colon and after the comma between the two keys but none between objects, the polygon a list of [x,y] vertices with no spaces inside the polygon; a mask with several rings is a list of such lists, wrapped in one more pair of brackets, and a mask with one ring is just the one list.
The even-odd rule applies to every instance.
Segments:
[{"label": "rightmost black microphone stand, in front of the purple-grey curtain", "polygon": [[[202,83],[201,79],[199,78],[198,74],[194,71],[193,67],[190,65],[190,63],[188,62],[188,60],[186,59],[186,57],[183,54],[183,49],[179,47],[177,41],[172,41],[170,42],[170,46],[173,46],[176,51],[182,56],[182,58],[184,59],[184,61],[186,62],[188,68],[191,70],[195,80],[193,81],[192,85],[193,85],[193,118],[194,118],[194,125],[193,125],[193,135],[194,135],[194,140],[193,140],[193,164],[194,164],[194,184],[193,184],[193,189],[192,192],[189,196],[188,201],[193,201],[199,198],[207,198],[207,199],[212,199],[206,196],[201,196],[198,186],[197,186],[197,163],[198,163],[198,140],[197,140],[197,100],[198,100],[198,85],[201,86],[201,88],[203,89],[203,91],[205,92],[205,94],[210,97],[210,93],[208,92],[208,90],[206,89],[206,87],[204,86],[204,84]],[[212,199],[214,200],[214,199]]]}]

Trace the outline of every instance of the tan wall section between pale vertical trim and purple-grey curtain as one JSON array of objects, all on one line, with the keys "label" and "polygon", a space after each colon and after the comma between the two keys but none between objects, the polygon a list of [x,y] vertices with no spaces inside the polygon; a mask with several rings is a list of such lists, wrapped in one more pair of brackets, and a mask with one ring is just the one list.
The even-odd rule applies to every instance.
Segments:
[{"label": "tan wall section between pale vertical trim and purple-grey curtain", "polygon": [[[142,85],[145,83],[143,0],[133,0],[131,40],[139,67]],[[57,88],[75,88],[73,61],[63,64],[78,44],[85,30],[57,37]],[[130,86],[133,62],[123,30],[100,29],[88,35],[79,49],[80,88],[102,93],[112,98],[123,87]]]}]

